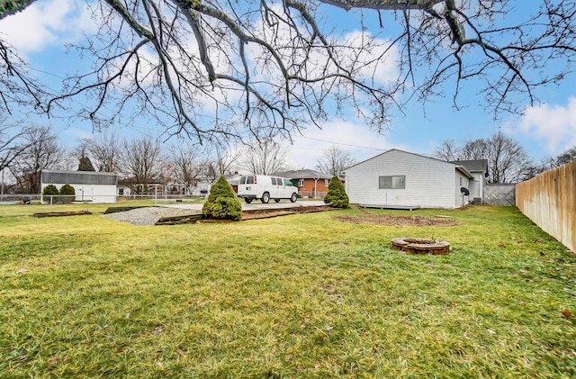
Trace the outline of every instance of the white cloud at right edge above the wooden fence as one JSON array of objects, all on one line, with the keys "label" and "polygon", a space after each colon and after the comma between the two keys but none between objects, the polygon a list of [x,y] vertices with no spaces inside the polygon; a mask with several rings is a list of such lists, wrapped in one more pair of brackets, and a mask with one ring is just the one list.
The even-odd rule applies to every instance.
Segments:
[{"label": "white cloud at right edge above the wooden fence", "polygon": [[565,106],[543,104],[527,108],[512,130],[539,141],[552,154],[576,146],[576,97],[570,97]]}]

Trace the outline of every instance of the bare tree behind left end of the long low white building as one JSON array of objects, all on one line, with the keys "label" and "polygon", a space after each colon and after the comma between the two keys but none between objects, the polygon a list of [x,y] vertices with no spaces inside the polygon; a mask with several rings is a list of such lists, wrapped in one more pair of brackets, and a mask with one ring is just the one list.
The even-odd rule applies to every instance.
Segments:
[{"label": "bare tree behind left end of the long low white building", "polygon": [[27,148],[10,167],[16,178],[18,191],[24,194],[40,192],[40,171],[58,168],[64,158],[64,149],[58,144],[58,136],[48,126],[35,126],[23,134]]}]

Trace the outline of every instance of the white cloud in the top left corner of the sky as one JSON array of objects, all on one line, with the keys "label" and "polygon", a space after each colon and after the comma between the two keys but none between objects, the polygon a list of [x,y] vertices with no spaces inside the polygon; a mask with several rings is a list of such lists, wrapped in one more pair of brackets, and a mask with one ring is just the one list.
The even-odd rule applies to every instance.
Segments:
[{"label": "white cloud in the top left corner of the sky", "polygon": [[91,11],[75,0],[38,1],[0,22],[0,36],[21,53],[78,41],[95,30]]}]

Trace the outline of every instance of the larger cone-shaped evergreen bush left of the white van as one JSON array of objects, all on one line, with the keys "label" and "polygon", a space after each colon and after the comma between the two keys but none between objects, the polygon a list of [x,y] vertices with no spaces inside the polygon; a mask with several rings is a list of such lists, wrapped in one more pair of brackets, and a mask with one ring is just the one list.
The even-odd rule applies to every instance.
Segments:
[{"label": "larger cone-shaped evergreen bush left of the white van", "polygon": [[242,220],[242,204],[224,176],[212,185],[202,214],[211,219]]}]

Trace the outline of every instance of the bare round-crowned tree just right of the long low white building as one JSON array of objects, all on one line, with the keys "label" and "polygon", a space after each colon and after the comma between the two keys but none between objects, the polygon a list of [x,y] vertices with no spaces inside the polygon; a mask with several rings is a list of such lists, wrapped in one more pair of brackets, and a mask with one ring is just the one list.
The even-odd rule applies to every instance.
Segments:
[{"label": "bare round-crowned tree just right of the long low white building", "polygon": [[161,181],[164,164],[159,140],[142,138],[122,141],[121,172],[132,181],[132,189],[137,194],[148,191],[148,184]]}]

